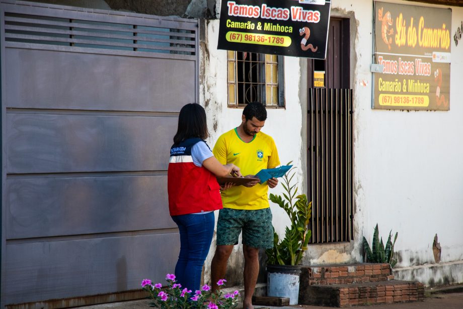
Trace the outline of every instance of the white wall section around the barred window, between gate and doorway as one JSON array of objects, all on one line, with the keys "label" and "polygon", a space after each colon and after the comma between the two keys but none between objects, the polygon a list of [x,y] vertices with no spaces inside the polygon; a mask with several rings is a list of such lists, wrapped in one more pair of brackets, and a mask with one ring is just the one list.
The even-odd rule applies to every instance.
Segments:
[{"label": "white wall section around the barred window, between gate and doorway", "polygon": [[[206,107],[208,127],[211,137],[208,142],[214,145],[217,138],[228,130],[236,128],[241,123],[242,108],[227,107],[226,77],[227,62],[226,51],[217,50],[218,20],[209,21],[207,25],[207,48],[209,55],[205,61],[206,78],[200,86],[200,104]],[[267,120],[262,132],[269,134],[275,140],[278,148],[278,155],[281,164],[293,161],[301,167],[302,153],[302,110],[299,102],[299,58],[285,57],[285,101],[286,108],[268,109]],[[202,101],[203,100],[203,101]],[[216,128],[214,130],[213,128]],[[298,169],[299,179],[303,179],[302,168]],[[278,188],[278,187],[277,187]],[[269,190],[270,193],[280,194],[281,186],[278,189]],[[299,188],[301,190],[301,188]],[[272,204],[272,203],[271,203]],[[284,227],[289,223],[286,213],[278,206],[271,206],[273,213],[273,224],[278,232],[283,232]],[[216,217],[218,213],[216,213]],[[209,265],[214,253],[214,241],[206,260],[205,280],[209,279]],[[241,246],[236,246],[234,255],[240,256]],[[234,257],[231,261],[236,261]]]}]

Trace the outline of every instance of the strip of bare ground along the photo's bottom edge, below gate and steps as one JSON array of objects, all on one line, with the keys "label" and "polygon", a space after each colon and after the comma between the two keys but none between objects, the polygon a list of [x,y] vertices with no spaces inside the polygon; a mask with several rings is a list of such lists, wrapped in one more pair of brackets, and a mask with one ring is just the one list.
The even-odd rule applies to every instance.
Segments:
[{"label": "strip of bare ground along the photo's bottom edge, below gate and steps", "polygon": [[[368,308],[368,309],[463,309],[463,292],[457,293],[429,293],[427,291],[427,297],[424,301],[417,302],[405,302],[405,303],[391,303],[391,304],[381,304],[373,306],[356,306],[354,308]],[[107,304],[83,306],[79,308],[85,309],[106,309],[106,308],[115,308],[115,309],[141,309],[149,308],[148,300],[133,300],[133,301],[123,301],[123,302],[114,302]],[[323,309],[323,308],[333,308],[333,307],[323,307],[323,306],[312,306],[312,305],[292,305],[284,307],[274,307],[274,306],[261,306],[255,305],[255,309]]]}]

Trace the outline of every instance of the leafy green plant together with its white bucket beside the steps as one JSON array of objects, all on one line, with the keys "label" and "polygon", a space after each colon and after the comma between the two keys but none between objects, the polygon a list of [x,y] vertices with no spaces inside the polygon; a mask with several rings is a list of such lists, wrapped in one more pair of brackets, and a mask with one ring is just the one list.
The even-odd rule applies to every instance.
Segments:
[{"label": "leafy green plant together with its white bucket beside the steps", "polygon": [[299,263],[312,236],[311,230],[308,229],[312,202],[307,202],[305,194],[297,195],[297,181],[292,181],[295,173],[293,167],[283,176],[283,197],[273,194],[269,196],[273,203],[286,212],[291,225],[286,227],[284,238],[281,240],[274,231],[273,248],[266,250],[267,295],[289,297],[290,304],[298,302]]}]

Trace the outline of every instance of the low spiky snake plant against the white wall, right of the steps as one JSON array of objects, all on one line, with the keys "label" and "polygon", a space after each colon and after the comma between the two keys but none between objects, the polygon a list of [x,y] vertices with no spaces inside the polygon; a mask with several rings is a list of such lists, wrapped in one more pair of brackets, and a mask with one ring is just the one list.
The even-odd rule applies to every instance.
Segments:
[{"label": "low spiky snake plant against the white wall, right of the steps", "polygon": [[396,232],[396,236],[394,237],[394,242],[391,241],[392,238],[392,230],[389,232],[388,241],[386,242],[386,246],[384,248],[384,243],[379,240],[379,229],[378,224],[374,228],[373,232],[373,242],[371,245],[368,244],[366,241],[365,236],[363,236],[363,249],[365,250],[366,254],[366,261],[370,263],[389,263],[391,267],[394,267],[397,263],[396,260],[393,260],[392,257],[394,255],[394,244],[396,243],[398,233]]}]

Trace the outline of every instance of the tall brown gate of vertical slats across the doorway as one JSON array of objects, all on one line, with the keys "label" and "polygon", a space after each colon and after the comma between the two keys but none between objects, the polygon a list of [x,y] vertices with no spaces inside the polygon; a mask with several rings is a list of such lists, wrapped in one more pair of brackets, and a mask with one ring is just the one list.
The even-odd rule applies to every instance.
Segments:
[{"label": "tall brown gate of vertical slats across the doorway", "polygon": [[353,239],[352,90],[308,92],[307,175],[312,243]]}]

